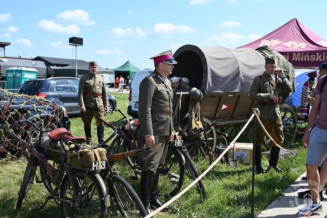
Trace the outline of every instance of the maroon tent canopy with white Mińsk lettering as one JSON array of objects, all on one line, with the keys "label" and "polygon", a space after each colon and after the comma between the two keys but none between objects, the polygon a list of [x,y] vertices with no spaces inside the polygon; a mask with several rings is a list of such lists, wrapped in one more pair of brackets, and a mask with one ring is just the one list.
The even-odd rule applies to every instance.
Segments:
[{"label": "maroon tent canopy with white Mi\u0144sk lettering", "polygon": [[267,45],[280,52],[294,67],[315,67],[327,62],[327,41],[296,18],[256,41],[239,48]]}]

